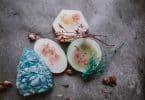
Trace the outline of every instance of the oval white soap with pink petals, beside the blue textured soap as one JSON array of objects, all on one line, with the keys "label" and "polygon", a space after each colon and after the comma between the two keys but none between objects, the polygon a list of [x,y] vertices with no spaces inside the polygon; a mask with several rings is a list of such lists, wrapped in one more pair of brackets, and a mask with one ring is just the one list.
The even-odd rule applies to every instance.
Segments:
[{"label": "oval white soap with pink petals, beside the blue textured soap", "polygon": [[45,61],[52,73],[62,73],[67,59],[62,48],[54,41],[42,38],[36,41],[34,51]]}]

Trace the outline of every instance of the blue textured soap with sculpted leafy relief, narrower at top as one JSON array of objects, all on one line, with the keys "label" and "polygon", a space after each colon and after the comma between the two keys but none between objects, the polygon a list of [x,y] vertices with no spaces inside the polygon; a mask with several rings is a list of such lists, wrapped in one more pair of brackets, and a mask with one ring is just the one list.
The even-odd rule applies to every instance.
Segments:
[{"label": "blue textured soap with sculpted leafy relief, narrower at top", "polygon": [[17,71],[16,86],[23,96],[49,91],[54,85],[48,66],[32,49],[23,49]]}]

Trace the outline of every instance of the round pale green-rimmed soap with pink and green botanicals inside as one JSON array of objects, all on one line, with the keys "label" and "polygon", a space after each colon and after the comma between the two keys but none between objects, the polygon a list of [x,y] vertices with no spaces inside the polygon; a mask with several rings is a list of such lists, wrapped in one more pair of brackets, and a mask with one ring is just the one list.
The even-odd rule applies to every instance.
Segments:
[{"label": "round pale green-rimmed soap with pink and green botanicals inside", "polygon": [[89,66],[91,57],[96,59],[97,64],[99,64],[102,58],[99,44],[91,38],[76,39],[68,47],[68,62],[79,72],[84,72],[86,67]]}]

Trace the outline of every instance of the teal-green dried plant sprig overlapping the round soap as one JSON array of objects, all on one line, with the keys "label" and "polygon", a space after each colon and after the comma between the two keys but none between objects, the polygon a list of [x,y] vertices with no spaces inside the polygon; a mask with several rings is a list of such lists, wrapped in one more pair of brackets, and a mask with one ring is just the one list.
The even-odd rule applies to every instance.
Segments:
[{"label": "teal-green dried plant sprig overlapping the round soap", "polygon": [[113,59],[116,52],[124,45],[124,42],[120,42],[117,44],[110,52],[106,53],[103,57],[101,62],[98,64],[97,59],[94,57],[91,57],[89,59],[89,65],[86,67],[86,70],[82,73],[82,78],[85,81],[89,81],[91,78],[94,78],[96,76],[101,76],[105,69],[106,65],[110,63],[110,61]]}]

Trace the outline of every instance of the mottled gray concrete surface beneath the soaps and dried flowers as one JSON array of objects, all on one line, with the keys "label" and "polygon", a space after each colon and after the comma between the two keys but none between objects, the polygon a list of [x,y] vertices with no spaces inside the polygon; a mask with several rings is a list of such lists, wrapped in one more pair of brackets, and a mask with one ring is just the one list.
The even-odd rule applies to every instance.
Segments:
[{"label": "mottled gray concrete surface beneath the soaps and dried flowers", "polygon": [[[105,42],[125,45],[108,66],[106,75],[117,76],[116,87],[106,87],[97,77],[85,83],[80,74],[55,75],[50,93],[24,98],[16,87],[0,93],[0,100],[145,100],[144,0],[0,0],[0,81],[16,81],[16,66],[24,47],[33,47],[27,32],[54,40],[52,22],[62,9],[81,10],[90,31],[105,34]],[[98,42],[99,43],[99,42]],[[103,51],[111,48],[101,43]],[[65,46],[63,46],[66,48]],[[68,88],[61,85],[69,84]],[[107,88],[111,93],[105,95]],[[60,99],[56,95],[63,94]]]}]

